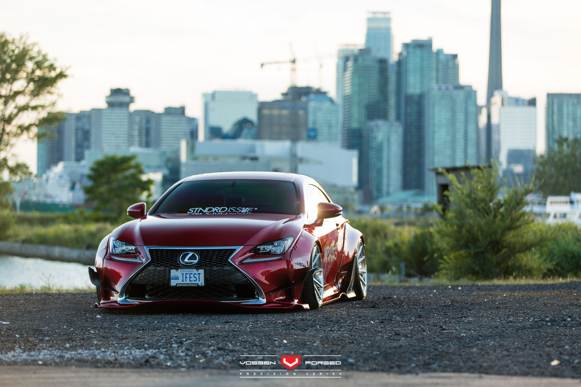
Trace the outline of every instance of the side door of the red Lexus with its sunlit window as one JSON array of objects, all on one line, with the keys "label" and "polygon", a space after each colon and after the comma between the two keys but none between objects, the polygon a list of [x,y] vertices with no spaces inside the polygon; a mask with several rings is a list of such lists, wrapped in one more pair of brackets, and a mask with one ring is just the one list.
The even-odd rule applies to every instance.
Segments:
[{"label": "side door of the red Lexus with its sunlit window", "polygon": [[[331,201],[315,185],[309,184],[306,187],[306,204],[307,220],[315,221],[317,219],[318,203],[330,203]],[[342,238],[339,238],[342,224],[340,219],[343,217],[328,218],[322,221],[322,224],[314,228],[314,234],[321,242],[321,255],[324,274],[324,297],[335,293],[338,289],[335,285],[338,252],[342,251]]]}]

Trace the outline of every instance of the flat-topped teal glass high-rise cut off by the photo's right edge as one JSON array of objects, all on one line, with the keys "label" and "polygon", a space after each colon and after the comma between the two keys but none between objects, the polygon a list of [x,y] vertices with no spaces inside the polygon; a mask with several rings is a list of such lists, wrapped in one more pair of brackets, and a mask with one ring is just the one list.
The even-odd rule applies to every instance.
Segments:
[{"label": "flat-topped teal glass high-rise cut off by the photo's right edge", "polygon": [[547,150],[559,137],[581,138],[581,94],[547,94],[545,116]]}]

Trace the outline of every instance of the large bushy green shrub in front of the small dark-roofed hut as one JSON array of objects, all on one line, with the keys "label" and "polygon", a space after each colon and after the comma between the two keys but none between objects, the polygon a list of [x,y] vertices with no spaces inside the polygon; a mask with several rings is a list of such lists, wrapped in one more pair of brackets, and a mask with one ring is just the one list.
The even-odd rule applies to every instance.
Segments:
[{"label": "large bushy green shrub in front of the small dark-roofed hut", "polygon": [[438,274],[450,279],[531,274],[524,253],[543,242],[525,208],[535,186],[517,182],[505,188],[497,164],[472,168],[471,175],[462,175],[461,181],[447,175],[450,209],[435,227],[443,253]]}]

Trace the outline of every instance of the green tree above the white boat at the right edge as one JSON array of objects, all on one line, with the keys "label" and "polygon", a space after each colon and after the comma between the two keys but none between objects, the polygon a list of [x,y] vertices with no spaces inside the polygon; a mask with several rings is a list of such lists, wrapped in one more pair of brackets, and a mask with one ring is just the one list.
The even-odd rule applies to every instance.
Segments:
[{"label": "green tree above the white boat at the right edge", "polygon": [[544,196],[581,192],[581,138],[558,138],[557,148],[536,158],[533,175]]}]

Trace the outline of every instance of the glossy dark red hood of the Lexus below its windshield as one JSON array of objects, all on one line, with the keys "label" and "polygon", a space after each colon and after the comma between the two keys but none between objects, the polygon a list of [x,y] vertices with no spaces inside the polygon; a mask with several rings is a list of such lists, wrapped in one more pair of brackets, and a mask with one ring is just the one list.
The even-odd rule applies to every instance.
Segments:
[{"label": "glossy dark red hood of the Lexus below its windshield", "polygon": [[159,214],[125,224],[116,237],[145,246],[259,245],[282,237],[295,215]]}]

